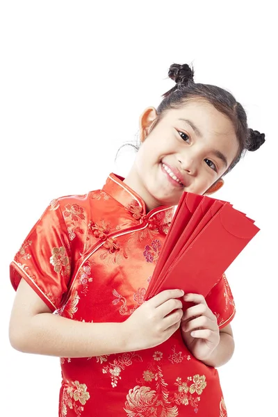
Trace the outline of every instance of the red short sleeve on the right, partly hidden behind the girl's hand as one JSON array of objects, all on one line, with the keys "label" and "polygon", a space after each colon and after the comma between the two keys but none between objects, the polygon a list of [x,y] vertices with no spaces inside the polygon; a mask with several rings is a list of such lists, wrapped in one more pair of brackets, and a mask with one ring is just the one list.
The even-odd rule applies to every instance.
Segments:
[{"label": "red short sleeve on the right, partly hidden behind the girl's hand", "polygon": [[233,320],[236,313],[234,297],[225,274],[206,296],[206,304],[215,314],[220,329]]}]

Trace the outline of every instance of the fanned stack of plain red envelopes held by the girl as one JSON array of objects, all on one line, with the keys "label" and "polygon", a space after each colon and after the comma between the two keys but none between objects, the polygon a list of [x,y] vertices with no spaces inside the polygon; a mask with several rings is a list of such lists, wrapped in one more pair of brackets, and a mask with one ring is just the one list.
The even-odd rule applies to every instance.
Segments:
[{"label": "fanned stack of plain red envelopes held by the girl", "polygon": [[184,192],[145,300],[171,288],[206,297],[258,231],[229,202]]}]

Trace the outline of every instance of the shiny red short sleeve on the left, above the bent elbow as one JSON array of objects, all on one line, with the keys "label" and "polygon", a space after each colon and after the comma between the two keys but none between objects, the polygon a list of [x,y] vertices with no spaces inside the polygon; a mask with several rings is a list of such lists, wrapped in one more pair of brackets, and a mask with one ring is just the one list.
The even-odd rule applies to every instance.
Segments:
[{"label": "shiny red short sleeve on the left, above the bent elbow", "polygon": [[17,290],[24,278],[49,309],[56,311],[67,293],[70,265],[70,239],[65,220],[59,205],[50,204],[10,263],[10,281]]}]

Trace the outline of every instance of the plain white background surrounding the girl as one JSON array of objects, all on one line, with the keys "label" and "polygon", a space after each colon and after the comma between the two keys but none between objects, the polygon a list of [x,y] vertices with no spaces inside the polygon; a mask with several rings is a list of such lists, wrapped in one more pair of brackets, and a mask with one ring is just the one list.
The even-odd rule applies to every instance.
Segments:
[{"label": "plain white background surrounding the girl", "polygon": [[[0,6],[1,415],[58,415],[58,358],[10,347],[8,265],[51,199],[123,176],[145,107],[172,63],[231,91],[265,133],[215,197],[261,228],[227,271],[234,357],[219,368],[229,417],[277,415],[277,21],[272,1],[13,1]],[[218,417],[218,416],[215,416]]]}]

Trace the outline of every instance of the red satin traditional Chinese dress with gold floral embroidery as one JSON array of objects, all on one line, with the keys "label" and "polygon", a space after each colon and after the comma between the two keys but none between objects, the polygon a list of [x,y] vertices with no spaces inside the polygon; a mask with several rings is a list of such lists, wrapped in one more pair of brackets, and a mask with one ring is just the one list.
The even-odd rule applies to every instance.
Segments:
[{"label": "red satin traditional Chinese dress with gold floral embroidery", "polygon": [[[154,208],[123,178],[54,199],[31,229],[10,279],[23,277],[49,308],[72,320],[122,322],[144,301],[174,215]],[[234,317],[225,276],[206,297],[219,327]],[[218,371],[193,357],[180,330],[152,349],[61,358],[59,417],[224,417]]]}]

